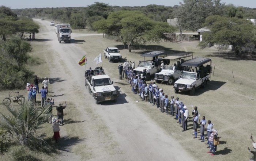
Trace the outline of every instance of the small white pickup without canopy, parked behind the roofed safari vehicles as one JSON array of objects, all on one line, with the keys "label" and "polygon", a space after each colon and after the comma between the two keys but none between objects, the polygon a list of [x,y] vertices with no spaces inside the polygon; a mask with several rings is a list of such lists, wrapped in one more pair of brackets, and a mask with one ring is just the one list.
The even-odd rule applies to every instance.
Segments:
[{"label": "small white pickup without canopy, parked behind the roofed safari vehicles", "polygon": [[106,50],[103,50],[104,57],[108,58],[109,62],[118,61],[121,62],[122,56],[120,54],[120,51],[117,49],[117,47],[107,47]]}]

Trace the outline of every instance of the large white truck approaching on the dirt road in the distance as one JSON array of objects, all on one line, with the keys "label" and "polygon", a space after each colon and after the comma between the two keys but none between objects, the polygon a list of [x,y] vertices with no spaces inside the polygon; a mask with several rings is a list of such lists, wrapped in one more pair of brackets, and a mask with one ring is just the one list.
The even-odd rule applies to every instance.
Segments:
[{"label": "large white truck approaching on the dirt road in the distance", "polygon": [[[57,30],[57,31],[56,31]],[[69,23],[59,23],[56,24],[56,30],[57,32],[57,38],[58,41],[61,42],[71,42],[71,32],[72,30],[70,29],[70,24]]]}]

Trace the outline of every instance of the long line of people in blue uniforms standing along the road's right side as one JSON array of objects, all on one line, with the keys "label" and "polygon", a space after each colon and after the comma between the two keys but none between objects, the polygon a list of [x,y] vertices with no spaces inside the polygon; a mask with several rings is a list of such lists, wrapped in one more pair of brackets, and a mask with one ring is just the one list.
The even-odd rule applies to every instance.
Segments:
[{"label": "long line of people in blue uniforms standing along the road's right side", "polygon": [[[175,120],[178,120],[177,123],[182,124],[182,132],[188,130],[188,107],[185,106],[183,101],[179,100],[178,97],[175,99],[174,95],[172,95],[169,99],[168,95],[166,95],[163,89],[159,88],[155,82],[151,80],[151,82],[147,84],[143,74],[140,76],[138,74],[136,75],[132,70],[130,70],[126,81],[131,84],[131,91],[139,95],[143,101],[152,104],[152,106],[156,106],[162,113],[173,116]],[[191,105],[191,107],[193,106]],[[208,153],[214,156],[217,145],[219,144],[217,130],[213,128],[211,120],[206,121],[205,116],[202,117],[202,120],[199,119],[200,114],[197,107],[193,107],[192,116],[193,138],[196,139],[197,133],[200,132],[199,140],[204,142],[204,134],[206,133],[208,138],[206,143],[208,145],[207,148],[210,148]],[[206,127],[207,123],[208,125]],[[197,131],[198,129],[199,131]]]}]

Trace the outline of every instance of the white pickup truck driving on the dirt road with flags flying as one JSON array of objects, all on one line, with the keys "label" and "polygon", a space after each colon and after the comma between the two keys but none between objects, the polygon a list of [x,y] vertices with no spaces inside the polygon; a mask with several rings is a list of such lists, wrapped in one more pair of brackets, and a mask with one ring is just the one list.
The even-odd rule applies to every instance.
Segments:
[{"label": "white pickup truck driving on the dirt road with flags flying", "polygon": [[[97,73],[97,71],[95,71],[94,73]],[[99,104],[99,101],[114,100],[114,102],[117,102],[119,93],[112,85],[113,82],[111,82],[108,75],[95,74],[86,76],[85,83],[88,92],[91,94],[91,96],[94,97],[96,104]]]}]

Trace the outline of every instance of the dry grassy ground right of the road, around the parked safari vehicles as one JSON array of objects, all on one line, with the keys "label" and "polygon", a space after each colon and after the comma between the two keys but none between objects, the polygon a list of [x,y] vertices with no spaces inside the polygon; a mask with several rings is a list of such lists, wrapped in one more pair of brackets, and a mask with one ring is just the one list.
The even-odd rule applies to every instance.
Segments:
[{"label": "dry grassy ground right of the road, around the parked safari vehicles", "polygon": [[[206,116],[206,120],[212,121],[219,137],[221,137],[216,156],[210,156],[207,153],[209,149],[204,144],[206,142],[202,143],[198,139],[193,139],[191,118],[188,123],[189,130],[181,132],[180,124],[173,117],[162,114],[155,106],[140,101],[139,96],[131,92],[131,87],[125,80],[117,81],[116,84],[121,87],[121,92],[132,96],[134,103],[139,104],[140,108],[165,129],[167,134],[177,139],[184,149],[195,157],[195,160],[248,160],[250,153],[247,147],[252,147],[250,136],[251,134],[256,136],[256,129],[253,128],[256,116],[255,57],[246,55],[237,58],[232,53],[220,53],[216,49],[200,50],[197,48],[197,41],[153,43],[142,47],[141,50],[132,49],[132,52],[129,53],[128,49],[123,49],[120,42],[102,38],[102,36],[79,37],[76,39],[87,40],[86,43],[78,44],[87,52],[87,60],[93,60],[99,53],[103,53],[103,49],[108,46],[116,46],[120,49],[123,62],[125,60],[135,61],[136,65],[138,65],[139,60],[143,60],[143,57],[140,57],[141,53],[146,52],[143,48],[147,50],[171,50],[174,53],[188,51],[193,52],[193,57],[210,57],[212,59],[212,70],[215,65],[214,75],[211,74],[211,81],[207,87],[197,89],[194,96],[190,96],[187,92],[175,94],[171,85],[162,83],[158,86],[167,95],[179,97],[189,107],[190,116],[192,112],[190,105],[193,104],[193,106],[198,107],[200,119],[202,119],[202,116]],[[109,63],[107,59],[103,58],[105,73],[109,74],[112,79],[118,77],[118,64]],[[99,64],[99,66],[102,65]],[[136,100],[139,100],[139,102],[137,103]],[[200,136],[200,133],[198,135]]]}]

